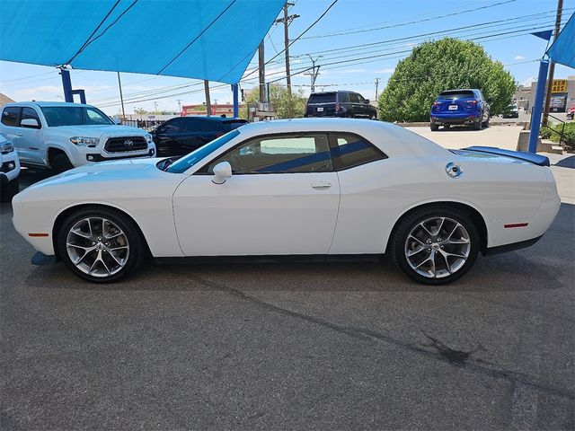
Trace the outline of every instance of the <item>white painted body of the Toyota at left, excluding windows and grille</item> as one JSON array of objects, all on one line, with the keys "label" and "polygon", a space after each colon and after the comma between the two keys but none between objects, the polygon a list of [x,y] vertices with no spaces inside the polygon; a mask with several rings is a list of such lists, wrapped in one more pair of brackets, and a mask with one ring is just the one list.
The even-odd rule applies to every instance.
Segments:
[{"label": "white painted body of the Toyota at left, excluding windows and grille", "polygon": [[[139,128],[130,128],[113,124],[106,125],[76,125],[76,126],[57,126],[50,127],[43,109],[52,107],[84,107],[94,109],[91,105],[81,103],[66,103],[57,101],[29,101],[8,103],[2,108],[2,121],[0,121],[0,133],[8,138],[20,155],[23,165],[49,168],[50,159],[56,152],[66,154],[69,162],[74,166],[82,166],[90,162],[110,161],[122,158],[132,157],[150,157],[155,155],[155,144],[152,136],[145,130]],[[35,113],[40,121],[38,127],[25,127],[21,124],[22,109]],[[15,124],[7,117],[12,112],[18,110]],[[105,114],[103,114],[105,115]],[[106,117],[107,118],[107,117]],[[107,118],[108,119],[108,118]],[[99,140],[95,146],[75,145],[71,138],[83,136],[96,138]],[[113,147],[113,151],[108,147],[110,139],[123,138],[127,141],[129,138],[145,139],[142,144],[143,148],[133,150],[132,147],[126,148]],[[132,143],[136,139],[131,139]],[[119,150],[119,151],[118,151]]]}]

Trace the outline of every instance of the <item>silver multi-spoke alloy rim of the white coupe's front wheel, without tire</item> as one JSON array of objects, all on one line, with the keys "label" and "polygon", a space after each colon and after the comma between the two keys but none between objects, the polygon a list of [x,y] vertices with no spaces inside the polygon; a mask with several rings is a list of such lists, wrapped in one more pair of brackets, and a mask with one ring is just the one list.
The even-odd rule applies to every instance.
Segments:
[{"label": "silver multi-spoke alloy rim of the white coupe's front wheel, without tire", "polygon": [[110,277],[128,262],[128,237],[106,218],[83,218],[68,231],[66,251],[75,267],[85,274]]}]

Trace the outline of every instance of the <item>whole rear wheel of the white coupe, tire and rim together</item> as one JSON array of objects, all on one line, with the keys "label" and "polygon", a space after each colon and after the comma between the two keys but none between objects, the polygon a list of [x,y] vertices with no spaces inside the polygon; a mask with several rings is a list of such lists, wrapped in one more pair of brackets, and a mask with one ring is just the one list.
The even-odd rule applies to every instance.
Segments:
[{"label": "whole rear wheel of the white coupe, tire and rim together", "polygon": [[427,207],[403,217],[390,243],[395,265],[425,285],[445,285],[473,267],[480,236],[473,220],[450,207]]}]

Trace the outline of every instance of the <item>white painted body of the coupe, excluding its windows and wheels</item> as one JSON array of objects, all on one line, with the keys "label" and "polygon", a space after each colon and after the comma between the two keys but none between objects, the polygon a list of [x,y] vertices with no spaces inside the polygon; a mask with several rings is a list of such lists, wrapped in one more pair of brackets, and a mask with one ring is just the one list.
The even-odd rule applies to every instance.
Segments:
[{"label": "white painted body of the coupe, excluding its windows and wheels", "polygon": [[[223,184],[195,174],[246,139],[293,132],[352,132],[387,158],[340,172],[234,174]],[[230,133],[237,136],[185,172],[158,169],[161,159],[138,159],[85,165],[43,180],[13,199],[13,224],[46,255],[55,254],[62,215],[91,204],[131,217],[155,258],[381,254],[404,214],[442,202],[481,216],[486,252],[540,237],[560,207],[553,174],[544,166],[456,154],[388,123],[293,119]],[[464,174],[452,178],[447,163]]]}]

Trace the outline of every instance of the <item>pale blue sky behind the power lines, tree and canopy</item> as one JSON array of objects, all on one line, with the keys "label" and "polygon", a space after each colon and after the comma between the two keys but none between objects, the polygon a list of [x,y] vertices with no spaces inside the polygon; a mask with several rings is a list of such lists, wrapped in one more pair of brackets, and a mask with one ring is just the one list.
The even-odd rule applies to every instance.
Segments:
[{"label": "pale blue sky behind the power lines, tree and canopy", "polygon": [[[289,13],[300,15],[289,27],[290,38],[295,38],[325,11],[332,0],[296,0],[292,3],[296,4]],[[506,65],[517,83],[526,84],[537,75],[536,60],[542,57],[546,46],[545,40],[528,33],[553,29],[556,7],[556,0],[339,0],[313,29],[305,33],[304,38],[289,48],[292,73],[311,66],[311,56],[317,58],[316,65],[322,65],[316,91],[355,90],[367,99],[374,99],[376,78],[380,79],[381,92],[394,66],[409,55],[414,45],[424,40],[452,36],[474,39],[493,59]],[[575,10],[575,0],[565,0],[563,7],[564,23]],[[241,35],[230,34],[230,48],[239,38]],[[283,39],[283,27],[272,26],[266,37],[266,60],[281,51]],[[119,43],[129,46],[137,40]],[[246,75],[256,65],[257,55],[244,75],[243,88],[253,87],[257,73]],[[283,53],[270,62],[266,72],[269,80],[285,76]],[[85,90],[88,103],[111,115],[119,113],[115,73],[73,70],[71,75],[74,88]],[[575,75],[575,70],[556,67],[555,78],[568,75]],[[158,110],[176,111],[178,101],[181,104],[204,101],[203,85],[198,80],[139,74],[121,74],[121,77],[127,114],[136,108],[155,110],[155,103]],[[285,84],[285,80],[278,83]],[[301,88],[305,94],[309,93],[309,84],[309,75],[292,77],[292,85]],[[211,85],[214,87],[212,102],[231,102],[229,85]],[[0,62],[0,92],[16,101],[63,100],[57,69],[47,66]]]}]

